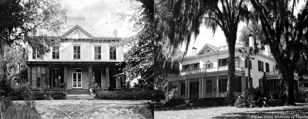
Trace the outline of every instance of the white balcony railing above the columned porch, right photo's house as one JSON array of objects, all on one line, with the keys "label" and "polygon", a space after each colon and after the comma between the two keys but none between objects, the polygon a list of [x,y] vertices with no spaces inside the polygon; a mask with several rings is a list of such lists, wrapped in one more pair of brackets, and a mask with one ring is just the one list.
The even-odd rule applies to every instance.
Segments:
[{"label": "white balcony railing above the columned porch, right photo's house", "polygon": [[[206,73],[206,72],[215,72],[215,71],[225,71],[225,70],[228,70],[228,66],[201,68],[201,69],[183,71],[183,72],[180,72],[179,75],[168,74],[168,77],[183,76],[183,75],[197,74],[197,73]],[[235,70],[236,71],[242,71],[242,67],[235,66]]]}]

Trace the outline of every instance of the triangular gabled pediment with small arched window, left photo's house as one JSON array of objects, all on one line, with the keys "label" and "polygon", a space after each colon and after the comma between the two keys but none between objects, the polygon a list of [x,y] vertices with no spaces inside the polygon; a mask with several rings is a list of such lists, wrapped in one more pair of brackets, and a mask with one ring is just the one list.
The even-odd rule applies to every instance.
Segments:
[{"label": "triangular gabled pediment with small arched window, left photo's house", "polygon": [[73,28],[68,30],[66,33],[62,35],[63,38],[91,38],[93,39],[94,37],[88,33],[86,30],[81,28],[79,25],[75,25]]}]

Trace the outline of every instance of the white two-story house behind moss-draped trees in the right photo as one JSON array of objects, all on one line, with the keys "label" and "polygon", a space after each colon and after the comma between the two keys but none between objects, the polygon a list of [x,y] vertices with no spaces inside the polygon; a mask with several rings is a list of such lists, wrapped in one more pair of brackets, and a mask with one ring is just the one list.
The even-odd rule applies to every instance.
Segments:
[{"label": "white two-story house behind moss-draped trees in the right photo", "polygon": [[[253,45],[253,37],[249,37],[250,46]],[[248,69],[247,61],[241,57],[237,51],[245,46],[236,43],[235,45],[235,95],[241,95],[245,88],[248,87]],[[208,98],[208,97],[225,97],[227,91],[228,80],[228,45],[226,43],[215,47],[205,44],[200,52],[193,48],[195,52],[191,56],[177,59],[180,62],[180,74],[168,75],[168,82],[176,82],[176,95],[169,96],[167,91],[167,99],[169,98]],[[275,71],[275,59],[270,56],[269,47],[265,47],[264,52],[259,52],[255,59],[251,62],[252,86],[262,86],[260,79],[265,72],[267,91],[280,90],[279,77]],[[294,73],[295,91],[298,91],[298,75]],[[168,85],[167,85],[168,86]],[[167,88],[168,89],[168,88]]]}]

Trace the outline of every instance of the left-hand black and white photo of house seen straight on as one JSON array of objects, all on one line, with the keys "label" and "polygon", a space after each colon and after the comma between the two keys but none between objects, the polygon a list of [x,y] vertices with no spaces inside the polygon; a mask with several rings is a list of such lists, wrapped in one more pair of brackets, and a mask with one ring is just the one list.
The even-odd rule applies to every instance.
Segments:
[{"label": "left-hand black and white photo of house seen straight on", "polygon": [[0,0],[1,119],[153,119],[154,0]]}]

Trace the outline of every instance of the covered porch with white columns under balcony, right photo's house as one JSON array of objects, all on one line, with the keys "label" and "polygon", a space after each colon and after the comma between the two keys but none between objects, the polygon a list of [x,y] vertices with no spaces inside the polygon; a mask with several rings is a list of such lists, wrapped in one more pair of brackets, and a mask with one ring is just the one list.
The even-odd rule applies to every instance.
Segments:
[{"label": "covered porch with white columns under balcony, right photo's house", "polygon": [[[167,99],[197,99],[211,97],[227,96],[228,71],[201,72],[167,78],[169,82],[177,84],[176,94],[169,96],[169,85],[167,85]],[[245,89],[244,72],[236,71],[235,73],[235,94],[241,95]]]}]

